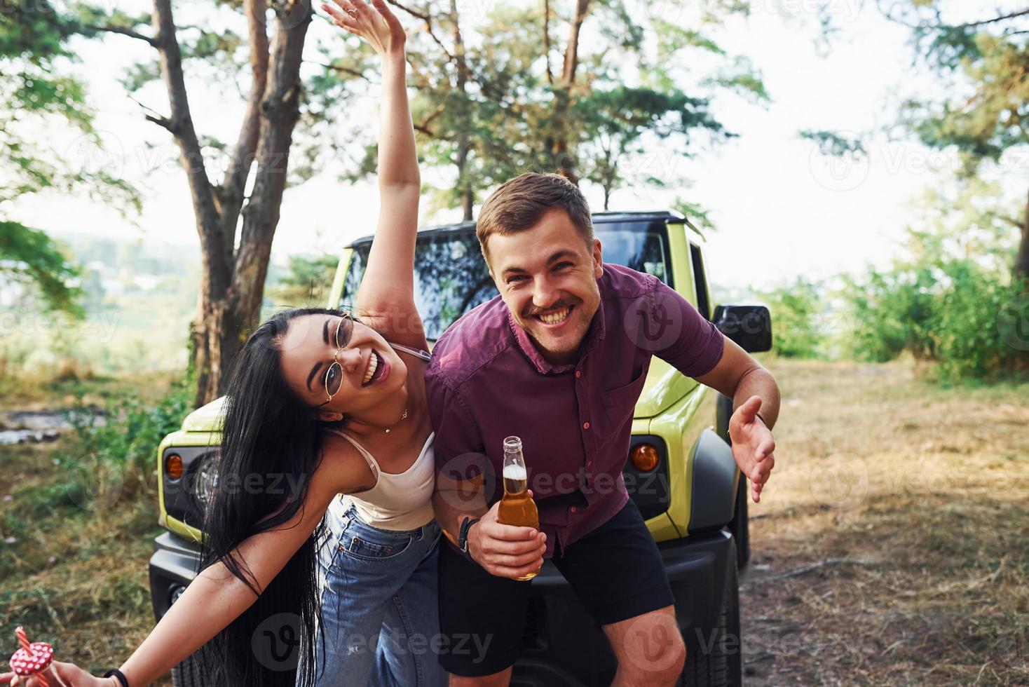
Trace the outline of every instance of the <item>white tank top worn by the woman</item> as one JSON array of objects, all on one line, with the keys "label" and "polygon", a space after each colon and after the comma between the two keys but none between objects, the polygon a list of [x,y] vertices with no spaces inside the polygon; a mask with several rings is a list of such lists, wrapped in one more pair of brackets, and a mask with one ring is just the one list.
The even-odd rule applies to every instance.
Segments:
[{"label": "white tank top worn by the woman", "polygon": [[341,494],[332,501],[343,514],[353,502],[357,513],[366,523],[383,530],[417,530],[432,521],[432,491],[435,487],[436,466],[430,433],[422,453],[410,468],[400,473],[383,472],[368,450],[350,435],[329,430],[354,444],[367,461],[376,484],[360,494]]}]

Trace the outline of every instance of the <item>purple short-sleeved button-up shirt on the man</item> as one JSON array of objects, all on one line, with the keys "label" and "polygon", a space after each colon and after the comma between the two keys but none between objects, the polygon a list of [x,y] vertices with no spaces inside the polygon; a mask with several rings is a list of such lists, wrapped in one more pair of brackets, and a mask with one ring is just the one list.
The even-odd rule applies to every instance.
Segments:
[{"label": "purple short-sleeved button-up shirt on the man", "polygon": [[503,439],[522,438],[546,557],[629,499],[622,470],[650,357],[695,377],[721,359],[721,332],[658,278],[604,264],[597,285],[578,361],[548,363],[498,295],[439,337],[425,377],[437,472],[485,473],[490,505],[503,496]]}]

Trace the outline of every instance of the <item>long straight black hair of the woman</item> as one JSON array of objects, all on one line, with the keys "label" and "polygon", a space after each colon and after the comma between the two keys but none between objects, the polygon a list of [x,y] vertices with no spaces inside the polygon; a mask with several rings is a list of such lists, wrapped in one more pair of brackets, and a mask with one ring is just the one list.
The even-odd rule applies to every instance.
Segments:
[{"label": "long straight black hair of the woman", "polygon": [[[284,378],[282,338],[290,322],[305,315],[342,312],[299,308],[277,313],[237,355],[225,388],[218,481],[205,517],[200,567],[221,562],[258,596],[200,652],[216,685],[311,687],[315,682],[315,627],[321,624],[316,542],[324,535],[323,525],[264,589],[257,588],[246,562],[234,552],[248,537],[282,526],[300,510],[321,457],[324,428],[345,424],[319,420]],[[304,670],[297,676],[300,657]]]}]

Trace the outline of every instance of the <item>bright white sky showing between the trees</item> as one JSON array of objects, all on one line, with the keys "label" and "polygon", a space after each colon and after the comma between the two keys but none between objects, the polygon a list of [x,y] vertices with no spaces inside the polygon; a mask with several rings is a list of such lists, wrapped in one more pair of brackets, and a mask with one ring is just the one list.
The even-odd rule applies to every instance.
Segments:
[{"label": "bright white sky showing between the trees", "polygon": [[[129,12],[148,7],[141,0],[108,2]],[[796,275],[822,278],[860,272],[868,262],[883,263],[915,217],[911,201],[926,186],[939,183],[939,171],[953,168],[950,157],[910,142],[874,143],[866,161],[848,165],[822,158],[812,143],[797,137],[807,129],[881,130],[893,120],[900,98],[918,87],[906,42],[909,30],[887,22],[874,6],[859,11],[859,0],[837,0],[830,7],[843,31],[822,57],[815,17],[808,11],[814,4],[759,0],[750,17],[735,19],[717,34],[722,47],[749,57],[760,69],[773,100],[767,108],[732,96],[717,104],[716,115],[739,139],[695,159],[674,161],[659,154],[633,161],[675,165],[676,172],[695,180],[691,189],[679,189],[679,194],[713,211],[718,230],[708,234],[709,270],[712,281],[725,287],[759,288]],[[670,20],[679,11],[673,1],[650,7]],[[314,30],[323,36],[328,29],[319,25]],[[98,109],[97,129],[109,152],[101,153],[66,133],[54,138],[68,157],[86,159],[140,184],[145,206],[138,226],[84,197],[32,197],[17,209],[22,221],[44,229],[122,237],[143,232],[146,240],[198,245],[185,177],[175,164],[177,148],[164,130],[143,120],[141,108],[117,81],[130,61],[149,49],[120,36],[83,43],[82,68]],[[215,83],[193,88],[190,97],[201,131],[235,141],[242,105],[225,105]],[[167,112],[161,83],[137,98]],[[144,170],[150,173],[144,175]],[[1013,160],[1004,173],[1024,180],[1029,176],[1027,161]],[[1016,187],[1024,189],[1025,183]],[[583,190],[595,209],[601,209],[600,189]],[[675,195],[619,190],[611,209],[664,207]],[[332,173],[287,190],[273,259],[296,252],[335,252],[349,240],[369,233],[378,206],[369,202],[374,197],[374,184],[351,186]]]}]

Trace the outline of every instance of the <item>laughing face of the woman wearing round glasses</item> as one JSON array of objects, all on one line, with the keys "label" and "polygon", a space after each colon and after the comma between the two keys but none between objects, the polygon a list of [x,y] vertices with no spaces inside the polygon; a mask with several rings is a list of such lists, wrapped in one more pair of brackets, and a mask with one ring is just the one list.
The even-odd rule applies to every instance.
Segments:
[{"label": "laughing face of the woman wearing round glasses", "polygon": [[326,421],[377,406],[407,377],[403,361],[379,332],[335,315],[291,320],[279,356],[286,384]]}]

